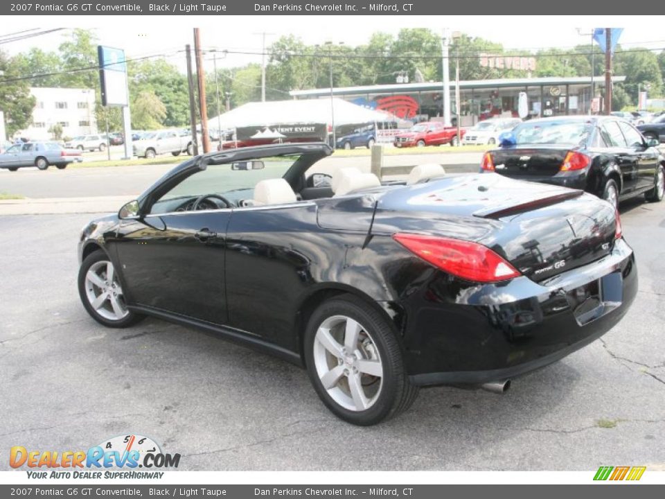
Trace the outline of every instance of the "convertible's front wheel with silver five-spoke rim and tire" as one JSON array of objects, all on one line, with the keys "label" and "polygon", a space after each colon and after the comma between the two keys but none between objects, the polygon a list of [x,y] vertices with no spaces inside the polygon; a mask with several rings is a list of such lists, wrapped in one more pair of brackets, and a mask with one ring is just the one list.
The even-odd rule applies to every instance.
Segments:
[{"label": "convertible's front wheel with silver five-spoke rim and tire", "polygon": [[87,312],[105,326],[126,327],[141,319],[127,309],[116,270],[104,252],[89,254],[81,264],[78,292]]}]

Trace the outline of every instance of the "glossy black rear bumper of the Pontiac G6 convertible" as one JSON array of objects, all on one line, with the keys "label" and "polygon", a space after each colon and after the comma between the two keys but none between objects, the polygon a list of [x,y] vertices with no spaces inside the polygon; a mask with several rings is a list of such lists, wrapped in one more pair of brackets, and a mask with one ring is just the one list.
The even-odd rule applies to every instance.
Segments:
[{"label": "glossy black rear bumper of the Pontiac G6 convertible", "polygon": [[540,283],[519,277],[447,296],[428,286],[405,334],[411,380],[476,384],[544,367],[609,331],[637,295],[637,267],[621,239],[605,258]]}]

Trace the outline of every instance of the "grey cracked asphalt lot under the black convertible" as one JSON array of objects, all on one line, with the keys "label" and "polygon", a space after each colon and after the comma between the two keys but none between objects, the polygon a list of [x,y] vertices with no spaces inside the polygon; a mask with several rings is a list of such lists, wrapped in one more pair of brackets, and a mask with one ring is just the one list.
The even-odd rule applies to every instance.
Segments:
[{"label": "grey cracked asphalt lot under the black convertible", "polygon": [[76,290],[91,216],[0,216],[0,468],[11,446],[134,432],[188,470],[665,469],[665,202],[622,211],[639,295],[601,341],[503,396],[423,389],[372,428],[335,419],[281,360],[157,319],[103,328]]}]

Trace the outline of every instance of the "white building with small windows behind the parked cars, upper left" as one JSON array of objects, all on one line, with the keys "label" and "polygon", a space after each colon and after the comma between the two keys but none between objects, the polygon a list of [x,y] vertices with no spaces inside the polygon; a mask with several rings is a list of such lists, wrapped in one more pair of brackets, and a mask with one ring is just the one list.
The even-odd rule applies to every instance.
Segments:
[{"label": "white building with small windows behind the parked cars, upper left", "polygon": [[62,137],[96,134],[94,89],[31,87],[35,96],[33,122],[15,134],[30,140],[50,140],[55,123],[62,125]]}]

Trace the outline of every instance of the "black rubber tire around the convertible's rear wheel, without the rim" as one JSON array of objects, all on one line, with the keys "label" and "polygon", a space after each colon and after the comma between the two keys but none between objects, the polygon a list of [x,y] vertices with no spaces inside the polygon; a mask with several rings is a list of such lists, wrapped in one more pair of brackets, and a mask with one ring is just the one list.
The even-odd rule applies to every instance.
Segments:
[{"label": "black rubber tire around the convertible's rear wheel, without the rim", "polygon": [[[323,387],[317,373],[314,360],[314,342],[317,331],[326,319],[340,315],[350,317],[362,325],[363,330],[366,331],[378,350],[382,363],[383,375],[380,390],[376,394],[375,401],[366,410],[344,408]],[[404,412],[416,400],[418,387],[410,383],[406,374],[396,331],[378,310],[364,304],[362,300],[353,295],[335,297],[325,301],[317,310],[314,310],[305,331],[304,347],[305,362],[312,385],[321,401],[339,419],[359,426],[371,426]]]}]

